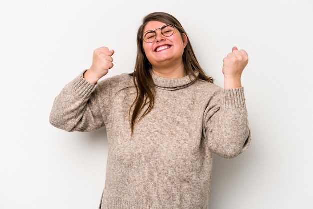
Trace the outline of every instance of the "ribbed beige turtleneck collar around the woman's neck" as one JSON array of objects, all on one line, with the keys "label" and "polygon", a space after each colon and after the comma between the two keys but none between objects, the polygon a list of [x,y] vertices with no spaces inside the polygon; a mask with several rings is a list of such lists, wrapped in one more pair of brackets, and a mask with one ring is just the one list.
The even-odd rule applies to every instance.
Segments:
[{"label": "ribbed beige turtleneck collar around the woman's neck", "polygon": [[[196,80],[196,78],[193,77],[191,74],[182,78],[164,78],[154,74],[152,70],[150,72],[154,81],[154,86],[163,90],[170,91],[185,88],[191,85]],[[196,75],[197,74],[198,73],[196,72]]]}]

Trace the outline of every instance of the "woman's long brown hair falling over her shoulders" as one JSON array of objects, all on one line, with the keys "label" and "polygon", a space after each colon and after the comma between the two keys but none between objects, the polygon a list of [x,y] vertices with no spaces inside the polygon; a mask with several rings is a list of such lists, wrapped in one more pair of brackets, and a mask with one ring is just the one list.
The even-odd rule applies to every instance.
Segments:
[{"label": "woman's long brown hair falling over her shoulders", "polygon": [[[131,73],[137,89],[137,97],[132,104],[133,108],[131,108],[133,109],[131,116],[131,132],[133,132],[136,121],[147,115],[152,110],[154,105],[155,90],[154,82],[150,73],[150,69],[152,68],[152,66],[143,50],[142,39],[143,29],[149,21],[159,21],[165,24],[175,25],[177,30],[180,32],[181,37],[183,33],[187,35],[180,22],[174,16],[168,13],[154,12],[148,14],[143,18],[142,25],[139,27],[137,33],[137,58],[135,63],[135,69],[134,72]],[[189,38],[188,44],[184,48],[182,60],[186,74],[191,74],[196,79],[205,80],[211,83],[214,82],[213,78],[205,74],[204,70],[201,68],[199,62],[197,61]],[[196,75],[197,73],[198,76]],[[138,119],[138,116],[140,114],[141,116]]]}]

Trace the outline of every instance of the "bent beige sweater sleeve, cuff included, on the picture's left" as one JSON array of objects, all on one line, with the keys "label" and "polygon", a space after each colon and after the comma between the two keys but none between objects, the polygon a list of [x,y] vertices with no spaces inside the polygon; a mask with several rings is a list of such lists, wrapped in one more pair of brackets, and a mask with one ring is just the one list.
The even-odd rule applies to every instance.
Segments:
[{"label": "bent beige sweater sleeve, cuff included, on the picture's left", "polygon": [[83,73],[77,76],[55,98],[50,123],[66,131],[92,131],[104,126],[95,88]]}]

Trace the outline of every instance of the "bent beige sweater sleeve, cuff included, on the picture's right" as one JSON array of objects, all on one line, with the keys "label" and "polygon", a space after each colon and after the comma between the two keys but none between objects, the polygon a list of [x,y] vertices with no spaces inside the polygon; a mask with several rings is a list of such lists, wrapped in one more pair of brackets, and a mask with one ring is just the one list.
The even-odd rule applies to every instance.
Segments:
[{"label": "bent beige sweater sleeve, cuff included, on the picture's right", "polygon": [[251,134],[243,87],[215,93],[205,111],[203,134],[209,149],[221,157],[233,158],[248,148]]}]

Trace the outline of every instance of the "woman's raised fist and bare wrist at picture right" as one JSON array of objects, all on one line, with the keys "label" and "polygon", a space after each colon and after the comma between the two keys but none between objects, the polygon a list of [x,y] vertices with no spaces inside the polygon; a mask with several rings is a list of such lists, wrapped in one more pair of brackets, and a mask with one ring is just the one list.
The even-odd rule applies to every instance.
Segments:
[{"label": "woman's raised fist and bare wrist at picture right", "polygon": [[232,48],[232,52],[223,59],[224,89],[241,87],[241,74],[248,60],[245,50]]}]

